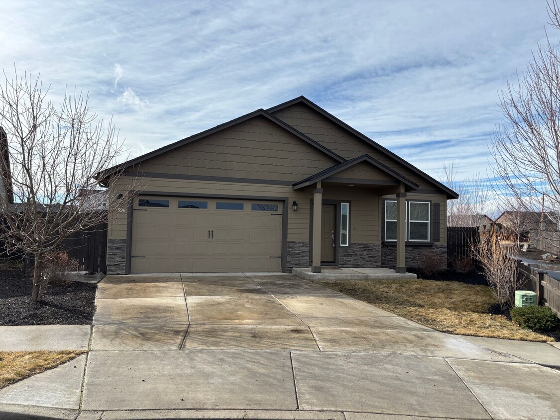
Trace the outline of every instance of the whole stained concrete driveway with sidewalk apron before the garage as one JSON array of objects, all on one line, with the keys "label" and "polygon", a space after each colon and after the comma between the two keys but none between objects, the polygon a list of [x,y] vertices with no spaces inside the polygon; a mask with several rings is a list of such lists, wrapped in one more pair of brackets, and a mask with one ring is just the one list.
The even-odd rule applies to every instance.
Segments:
[{"label": "whole stained concrete driveway with sidewalk apron before the garage", "polygon": [[[111,276],[96,303],[87,358],[0,404],[104,419],[560,417],[560,372],[289,274]],[[77,385],[48,397],[49,374]]]}]

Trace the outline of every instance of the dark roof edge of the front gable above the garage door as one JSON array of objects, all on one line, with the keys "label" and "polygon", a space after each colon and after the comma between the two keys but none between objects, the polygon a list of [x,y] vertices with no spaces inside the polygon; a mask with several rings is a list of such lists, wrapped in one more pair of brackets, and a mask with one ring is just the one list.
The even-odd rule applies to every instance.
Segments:
[{"label": "dark roof edge of the front gable above the garage door", "polygon": [[205,130],[201,133],[194,134],[193,136],[181,139],[181,140],[179,140],[175,143],[167,144],[167,146],[160,147],[157,150],[154,150],[152,152],[148,152],[148,153],[146,153],[142,156],[138,156],[136,158],[130,159],[130,160],[124,162],[123,164],[115,165],[113,167],[110,167],[109,169],[106,169],[104,171],[99,172],[99,174],[96,175],[96,179],[102,180],[102,179],[106,178],[107,176],[110,176],[115,171],[122,171],[122,170],[126,169],[127,167],[137,165],[137,164],[139,164],[143,161],[146,161],[146,160],[148,160],[152,157],[156,157],[158,155],[161,155],[162,153],[169,152],[169,151],[174,150],[178,147],[184,146],[185,144],[192,143],[194,141],[197,141],[200,138],[209,136],[210,134],[219,132],[219,131],[224,130],[226,128],[230,128],[230,127],[232,127],[236,124],[243,123],[247,120],[250,120],[251,118],[255,118],[256,116],[263,116],[264,118],[268,119],[270,122],[278,125],[279,127],[281,127],[284,130],[290,132],[294,136],[302,139],[304,142],[306,142],[306,143],[310,144],[311,146],[315,147],[317,150],[325,153],[325,155],[328,155],[328,156],[332,157],[335,161],[338,161],[338,162],[344,162],[345,161],[345,159],[342,156],[337,155],[337,153],[334,153],[332,150],[329,150],[328,148],[326,148],[322,144],[316,142],[314,139],[306,136],[304,133],[299,132],[295,128],[291,127],[291,125],[288,125],[288,124],[284,123],[281,119],[276,118],[276,116],[269,114],[264,109],[258,109],[256,111],[253,111],[252,113],[245,114],[245,115],[240,116],[239,118],[235,118],[231,121],[228,121],[227,123],[216,125],[216,127],[214,127],[214,128],[210,128],[210,129]]}]

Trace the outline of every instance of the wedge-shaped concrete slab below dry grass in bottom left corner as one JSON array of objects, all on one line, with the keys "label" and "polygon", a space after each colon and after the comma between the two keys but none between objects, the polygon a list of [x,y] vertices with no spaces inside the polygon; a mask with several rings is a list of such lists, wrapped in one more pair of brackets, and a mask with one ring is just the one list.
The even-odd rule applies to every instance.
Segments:
[{"label": "wedge-shaped concrete slab below dry grass in bottom left corner", "polygon": [[0,390],[1,404],[78,409],[86,355]]}]

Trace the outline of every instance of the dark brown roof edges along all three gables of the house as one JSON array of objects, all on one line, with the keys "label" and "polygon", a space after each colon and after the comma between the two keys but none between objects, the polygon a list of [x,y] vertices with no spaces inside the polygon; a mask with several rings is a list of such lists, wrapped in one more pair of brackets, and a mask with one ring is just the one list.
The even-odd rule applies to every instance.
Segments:
[{"label": "dark brown roof edges along all three gables of the house", "polygon": [[[169,151],[174,150],[178,147],[184,146],[185,144],[188,144],[190,142],[197,141],[198,139],[207,137],[207,136],[209,136],[211,134],[214,134],[214,133],[217,133],[221,130],[230,128],[230,127],[232,127],[236,124],[246,122],[247,120],[249,120],[251,118],[255,118],[257,116],[262,116],[262,117],[268,119],[270,122],[278,125],[278,127],[281,127],[283,129],[287,130],[288,132],[293,134],[293,136],[296,136],[296,137],[300,138],[301,140],[310,144],[312,147],[314,147],[317,150],[323,152],[325,155],[330,156],[333,160],[335,160],[337,162],[340,162],[340,164],[348,164],[348,162],[351,162],[351,163],[348,164],[348,166],[339,167],[338,164],[334,165],[334,166],[332,166],[332,167],[330,167],[330,168],[328,168],[324,171],[319,172],[318,174],[313,175],[309,179],[298,181],[298,183],[296,183],[297,185],[296,184],[294,185],[296,188],[301,188],[300,183],[304,184],[305,182],[309,181],[313,177],[321,178],[321,176],[324,175],[323,172],[325,172],[326,175],[324,176],[324,178],[326,178],[326,176],[332,175],[333,173],[336,173],[336,172],[341,171],[343,169],[347,169],[348,167],[352,166],[353,164],[357,164],[358,162],[363,162],[363,161],[367,161],[369,164],[376,166],[378,169],[384,171],[386,174],[392,176],[393,178],[395,178],[399,181],[402,181],[405,185],[407,185],[407,187],[410,190],[417,190],[419,188],[419,185],[414,183],[412,180],[410,180],[410,179],[406,178],[405,176],[399,174],[395,170],[390,169],[388,166],[382,164],[379,160],[376,160],[375,158],[372,158],[371,156],[369,156],[367,154],[362,155],[362,156],[358,156],[356,158],[352,158],[350,160],[346,160],[345,158],[343,158],[342,156],[339,156],[334,151],[332,151],[329,148],[323,146],[323,144],[315,141],[311,137],[307,136],[304,133],[301,133],[299,130],[292,127],[290,124],[287,124],[287,123],[283,122],[281,119],[272,115],[272,113],[274,111],[281,110],[283,108],[286,108],[287,106],[297,104],[297,103],[300,103],[300,102],[306,104],[307,106],[309,106],[313,110],[315,110],[318,113],[320,113],[321,115],[323,115],[325,118],[329,119],[331,122],[337,124],[338,127],[340,127],[342,129],[346,130],[347,132],[353,134],[353,136],[356,136],[361,141],[366,142],[370,146],[374,147],[375,150],[383,153],[384,155],[388,156],[392,160],[398,162],[398,164],[406,167],[408,170],[412,171],[414,174],[418,175],[420,178],[425,179],[428,183],[430,183],[432,185],[435,185],[438,189],[441,189],[443,192],[445,192],[445,194],[447,195],[447,198],[458,198],[459,197],[459,194],[457,194],[456,192],[454,192],[450,188],[447,188],[447,186],[445,186],[444,184],[441,184],[439,181],[433,179],[430,175],[427,175],[425,172],[419,170],[417,167],[409,164],[403,158],[400,158],[399,156],[395,155],[393,152],[390,152],[388,149],[386,149],[386,148],[380,146],[379,144],[377,144],[376,142],[372,141],[370,138],[366,137],[364,134],[362,134],[362,133],[358,132],[357,130],[353,129],[348,124],[342,122],[341,120],[339,120],[338,118],[336,118],[332,114],[330,114],[327,111],[325,111],[324,109],[320,108],[320,106],[318,106],[318,105],[314,104],[313,102],[311,102],[310,100],[306,99],[304,96],[300,96],[300,97],[297,97],[295,99],[292,99],[291,101],[284,102],[283,104],[274,106],[273,108],[270,108],[268,110],[258,109],[256,111],[253,111],[252,113],[240,116],[239,118],[233,119],[233,120],[231,120],[227,123],[220,124],[220,125],[217,125],[214,128],[205,130],[202,133],[198,133],[198,134],[195,134],[194,136],[190,136],[190,137],[186,137],[184,139],[181,139],[178,142],[168,144],[167,146],[161,147],[161,148],[159,148],[155,151],[146,153],[142,156],[133,158],[133,159],[127,161],[127,162],[124,162],[123,164],[116,165],[116,166],[113,166],[109,169],[101,171],[101,172],[99,172],[99,174],[96,175],[96,179],[100,181],[101,185],[106,186],[104,184],[104,181],[106,179],[108,179],[110,177],[110,175],[113,174],[114,172],[121,171],[121,170],[126,169],[127,167],[131,167],[133,165],[140,164],[141,162],[144,162],[148,159],[151,159],[153,157],[161,155],[162,153],[169,152]],[[352,162],[354,162],[354,163],[352,163]],[[321,179],[323,179],[323,178],[321,178]]]}]

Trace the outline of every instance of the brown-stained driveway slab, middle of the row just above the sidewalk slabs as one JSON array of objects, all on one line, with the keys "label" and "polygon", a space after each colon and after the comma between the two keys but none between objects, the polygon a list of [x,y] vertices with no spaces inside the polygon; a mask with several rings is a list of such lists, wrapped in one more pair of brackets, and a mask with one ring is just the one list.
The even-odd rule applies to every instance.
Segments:
[{"label": "brown-stained driveway slab, middle of the row just above the sidewalk slabs", "polygon": [[183,349],[319,351],[309,328],[283,325],[191,325]]}]

